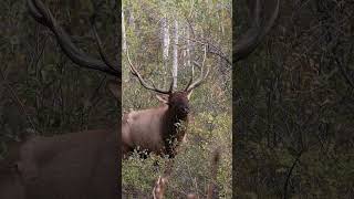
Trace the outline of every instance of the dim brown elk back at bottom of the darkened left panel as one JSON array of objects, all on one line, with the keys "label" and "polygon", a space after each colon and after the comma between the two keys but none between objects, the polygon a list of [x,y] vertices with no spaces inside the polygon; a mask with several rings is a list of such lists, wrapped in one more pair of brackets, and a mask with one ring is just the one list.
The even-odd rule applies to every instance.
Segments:
[{"label": "dim brown elk back at bottom of the darkened left panel", "polygon": [[116,130],[33,137],[20,150],[28,199],[117,197]]}]

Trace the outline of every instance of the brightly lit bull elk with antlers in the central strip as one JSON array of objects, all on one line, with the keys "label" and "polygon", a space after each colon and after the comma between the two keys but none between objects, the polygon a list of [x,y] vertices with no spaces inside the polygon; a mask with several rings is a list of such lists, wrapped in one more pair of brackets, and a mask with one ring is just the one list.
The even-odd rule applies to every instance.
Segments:
[{"label": "brightly lit bull elk with antlers in the central strip", "polygon": [[204,59],[200,66],[200,75],[194,82],[191,75],[188,85],[183,91],[173,91],[174,80],[169,90],[162,90],[148,84],[132,63],[127,53],[129,69],[139,83],[147,90],[159,93],[158,100],[163,103],[159,107],[143,111],[133,111],[123,116],[122,122],[122,144],[123,153],[133,151],[136,148],[145,153],[167,155],[174,157],[180,142],[184,140],[189,114],[189,96],[194,88],[201,85],[209,74],[209,69],[205,69],[207,46],[205,46]]}]

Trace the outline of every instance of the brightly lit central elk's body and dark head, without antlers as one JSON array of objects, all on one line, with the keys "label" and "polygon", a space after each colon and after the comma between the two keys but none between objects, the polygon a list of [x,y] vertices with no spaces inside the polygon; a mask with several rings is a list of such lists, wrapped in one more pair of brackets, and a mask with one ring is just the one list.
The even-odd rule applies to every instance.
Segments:
[{"label": "brightly lit central elk's body and dark head, without antlers", "polygon": [[160,107],[131,112],[123,117],[125,154],[139,147],[147,153],[175,156],[175,148],[186,135],[189,103],[186,93],[175,93],[168,102]]}]

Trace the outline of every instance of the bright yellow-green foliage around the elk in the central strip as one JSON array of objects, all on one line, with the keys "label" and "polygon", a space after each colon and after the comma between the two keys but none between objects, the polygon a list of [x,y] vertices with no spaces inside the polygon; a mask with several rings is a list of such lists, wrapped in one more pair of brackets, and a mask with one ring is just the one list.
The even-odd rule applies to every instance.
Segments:
[{"label": "bright yellow-green foliage around the elk in the central strip", "polygon": [[[221,49],[231,60],[231,2],[230,1],[123,1],[126,27],[126,42],[132,62],[142,75],[153,80],[160,87],[170,82],[173,63],[174,20],[178,21],[178,90],[183,90],[190,77],[186,57],[186,31],[194,30],[192,39],[209,41]],[[170,59],[164,69],[162,48],[162,20],[166,17],[170,30]],[[123,41],[124,42],[124,41]],[[201,46],[195,43],[194,59],[200,63]],[[158,105],[156,93],[146,91],[129,74],[123,53],[123,112]],[[220,198],[231,198],[231,65],[223,59],[207,55],[206,64],[211,74],[205,84],[191,95],[191,122],[188,143],[181,147],[167,185],[168,198],[184,197],[189,192],[205,195],[210,179],[211,151],[216,146],[222,149],[217,185]],[[167,71],[164,71],[167,70]],[[167,76],[164,75],[166,72]],[[196,75],[199,71],[196,67]],[[159,161],[160,168],[154,167]],[[164,171],[165,159],[150,157],[145,160],[131,158],[123,161],[123,189],[126,196],[152,195],[155,180]]]}]

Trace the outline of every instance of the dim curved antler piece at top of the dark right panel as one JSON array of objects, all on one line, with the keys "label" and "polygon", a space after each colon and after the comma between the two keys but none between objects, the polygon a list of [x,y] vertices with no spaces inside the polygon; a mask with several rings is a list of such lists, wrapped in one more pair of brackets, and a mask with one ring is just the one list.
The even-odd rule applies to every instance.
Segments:
[{"label": "dim curved antler piece at top of the dark right panel", "polygon": [[[253,13],[253,15],[251,15],[253,19],[252,27],[237,41],[233,51],[233,59],[236,62],[248,56],[258,46],[258,44],[274,24],[279,13],[280,0],[275,1],[275,6],[271,10],[271,17],[268,20],[266,19],[267,13],[264,13],[264,11],[262,12],[260,0],[256,0],[256,3],[253,4],[254,8],[250,8],[250,12]],[[263,7],[267,2],[263,2]],[[261,17],[261,12],[263,13],[263,17]]]}]

